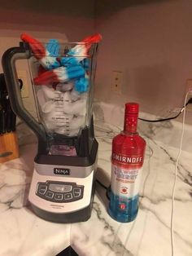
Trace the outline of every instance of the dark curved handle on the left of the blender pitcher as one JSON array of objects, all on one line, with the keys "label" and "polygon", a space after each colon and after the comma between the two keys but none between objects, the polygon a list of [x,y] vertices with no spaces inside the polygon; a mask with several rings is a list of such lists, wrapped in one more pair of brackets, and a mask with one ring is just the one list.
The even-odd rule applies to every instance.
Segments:
[{"label": "dark curved handle on the left of the blender pitcher", "polygon": [[35,118],[24,108],[24,104],[20,92],[20,84],[18,81],[15,60],[24,60],[31,57],[31,51],[28,44],[20,42],[20,47],[12,47],[2,55],[2,68],[7,83],[7,91],[11,102],[11,108],[15,114],[24,120],[27,125],[37,135],[41,142],[46,142],[46,131]]}]

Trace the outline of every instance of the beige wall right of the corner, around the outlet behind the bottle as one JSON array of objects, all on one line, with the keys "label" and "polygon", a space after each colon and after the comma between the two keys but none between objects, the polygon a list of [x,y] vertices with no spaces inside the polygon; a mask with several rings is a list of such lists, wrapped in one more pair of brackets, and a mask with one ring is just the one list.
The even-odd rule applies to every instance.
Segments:
[{"label": "beige wall right of the corner, around the outlet behind the bottle", "polygon": [[[142,112],[169,116],[184,103],[185,81],[192,78],[192,1],[104,3],[96,20],[103,34],[96,98],[121,106],[137,101]],[[122,95],[111,91],[112,70],[123,72]]]}]

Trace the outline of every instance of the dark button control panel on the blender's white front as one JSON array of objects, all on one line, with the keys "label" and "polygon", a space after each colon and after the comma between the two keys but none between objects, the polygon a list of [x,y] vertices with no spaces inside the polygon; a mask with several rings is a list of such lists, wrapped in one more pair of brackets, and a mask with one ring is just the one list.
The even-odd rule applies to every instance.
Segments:
[{"label": "dark button control panel on the blender's white front", "polygon": [[67,203],[83,198],[84,186],[76,183],[46,181],[37,183],[36,195],[57,203]]}]

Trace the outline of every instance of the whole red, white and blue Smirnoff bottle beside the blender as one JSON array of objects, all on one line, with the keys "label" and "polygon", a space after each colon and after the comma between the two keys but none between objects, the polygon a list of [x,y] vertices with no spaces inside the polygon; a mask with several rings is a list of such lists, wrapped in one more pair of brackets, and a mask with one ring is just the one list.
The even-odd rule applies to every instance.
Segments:
[{"label": "whole red, white and blue Smirnoff bottle beside the blender", "polygon": [[111,196],[108,212],[120,223],[133,221],[146,141],[137,133],[138,104],[125,104],[124,130],[112,141]]}]

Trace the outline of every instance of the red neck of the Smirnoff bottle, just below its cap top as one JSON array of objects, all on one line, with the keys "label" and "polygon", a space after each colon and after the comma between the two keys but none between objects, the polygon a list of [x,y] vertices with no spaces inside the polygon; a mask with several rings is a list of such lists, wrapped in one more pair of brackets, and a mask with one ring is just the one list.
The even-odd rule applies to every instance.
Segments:
[{"label": "red neck of the Smirnoff bottle, just below its cap top", "polygon": [[137,133],[138,113],[124,113],[124,134]]}]

